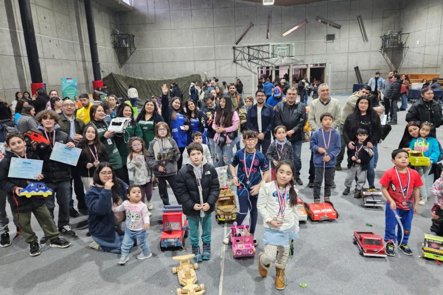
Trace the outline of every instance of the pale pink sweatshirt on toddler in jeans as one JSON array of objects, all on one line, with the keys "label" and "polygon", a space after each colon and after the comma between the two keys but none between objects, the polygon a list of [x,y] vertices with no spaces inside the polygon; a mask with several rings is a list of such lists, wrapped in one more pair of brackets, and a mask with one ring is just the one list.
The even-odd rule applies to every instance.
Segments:
[{"label": "pale pink sweatshirt on toddler in jeans", "polygon": [[112,208],[112,212],[126,211],[126,227],[131,231],[141,231],[145,229],[145,223],[149,224],[148,207],[141,201],[133,204],[125,200],[121,205]]}]

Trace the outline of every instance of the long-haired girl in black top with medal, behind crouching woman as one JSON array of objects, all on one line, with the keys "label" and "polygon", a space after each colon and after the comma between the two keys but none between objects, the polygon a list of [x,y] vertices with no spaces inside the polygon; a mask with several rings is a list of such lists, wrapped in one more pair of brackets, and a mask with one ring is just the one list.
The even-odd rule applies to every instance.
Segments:
[{"label": "long-haired girl in black top with medal, behind crouching woman", "polygon": [[96,167],[101,162],[108,162],[108,151],[100,141],[98,134],[97,128],[89,125],[83,131],[82,139],[78,143],[78,148],[81,148],[82,151],[78,158],[77,169],[85,191],[89,189]]}]

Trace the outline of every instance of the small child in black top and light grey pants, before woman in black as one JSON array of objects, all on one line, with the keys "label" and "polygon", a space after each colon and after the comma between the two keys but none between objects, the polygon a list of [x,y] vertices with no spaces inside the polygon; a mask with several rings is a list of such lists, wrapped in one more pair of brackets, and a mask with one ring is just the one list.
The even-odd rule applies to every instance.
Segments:
[{"label": "small child in black top and light grey pants, before woman in black", "polygon": [[354,149],[347,149],[348,153],[348,175],[344,181],[346,189],[343,195],[350,194],[352,181],[356,179],[356,186],[354,197],[360,197],[360,191],[366,182],[366,170],[369,168],[369,162],[374,155],[372,149],[366,147],[366,140],[368,139],[368,131],[364,128],[358,128],[356,132],[357,144]]}]

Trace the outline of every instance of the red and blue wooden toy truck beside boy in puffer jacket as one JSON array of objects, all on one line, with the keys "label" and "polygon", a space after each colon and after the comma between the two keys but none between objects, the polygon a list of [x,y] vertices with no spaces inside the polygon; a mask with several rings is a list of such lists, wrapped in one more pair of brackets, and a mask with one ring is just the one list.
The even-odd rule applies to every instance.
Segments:
[{"label": "red and blue wooden toy truck beside boy in puffer jacket", "polygon": [[166,248],[184,246],[188,231],[188,221],[181,205],[166,205],[163,209],[163,228],[160,229],[160,249],[164,251]]}]

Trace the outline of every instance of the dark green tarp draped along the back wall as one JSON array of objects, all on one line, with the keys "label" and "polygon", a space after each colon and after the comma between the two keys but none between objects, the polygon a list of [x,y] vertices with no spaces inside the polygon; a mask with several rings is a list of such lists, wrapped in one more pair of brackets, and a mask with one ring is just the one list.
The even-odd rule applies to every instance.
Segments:
[{"label": "dark green tarp draped along the back wall", "polygon": [[119,98],[128,98],[129,85],[132,84],[138,92],[139,101],[146,101],[152,96],[162,95],[162,86],[166,83],[170,88],[170,83],[177,83],[183,94],[183,101],[189,99],[189,86],[191,82],[197,81],[200,86],[203,85],[205,76],[192,74],[177,78],[148,78],[148,77],[130,77],[111,73],[103,78],[103,83],[108,85],[108,91]]}]

